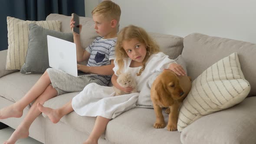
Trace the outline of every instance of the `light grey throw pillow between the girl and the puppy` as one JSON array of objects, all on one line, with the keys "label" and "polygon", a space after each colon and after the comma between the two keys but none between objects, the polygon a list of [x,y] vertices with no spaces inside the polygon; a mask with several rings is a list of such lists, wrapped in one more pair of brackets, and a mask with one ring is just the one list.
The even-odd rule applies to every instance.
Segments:
[{"label": "light grey throw pillow between the girl and the puppy", "polygon": [[[180,55],[178,56],[176,59],[174,59],[179,65],[182,66],[182,68],[185,70],[185,72],[187,73],[187,69],[186,69],[186,63],[183,59],[183,57]],[[151,75],[146,82],[146,85],[144,85],[141,88],[141,92],[139,94],[138,97],[138,101],[137,101],[137,108],[153,108],[153,103],[151,101],[150,98],[150,89],[151,86],[154,82],[154,80],[157,78],[157,76],[161,74],[161,72],[155,72],[153,75]]]}]

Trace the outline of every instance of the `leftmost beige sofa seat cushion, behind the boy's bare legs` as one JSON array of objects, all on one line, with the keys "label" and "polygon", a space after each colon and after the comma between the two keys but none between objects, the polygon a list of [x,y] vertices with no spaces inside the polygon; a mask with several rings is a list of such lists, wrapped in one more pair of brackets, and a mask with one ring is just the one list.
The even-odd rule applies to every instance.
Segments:
[{"label": "leftmost beige sofa seat cushion, behind the boy's bare legs", "polygon": [[16,102],[32,88],[40,76],[40,74],[24,75],[20,72],[5,75],[0,78],[0,96]]}]

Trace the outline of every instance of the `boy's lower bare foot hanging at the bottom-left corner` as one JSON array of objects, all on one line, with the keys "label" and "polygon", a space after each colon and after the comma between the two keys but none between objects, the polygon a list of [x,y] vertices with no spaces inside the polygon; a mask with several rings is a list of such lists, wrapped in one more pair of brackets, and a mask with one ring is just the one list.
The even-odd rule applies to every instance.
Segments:
[{"label": "boy's lower bare foot hanging at the bottom-left corner", "polygon": [[10,138],[3,142],[3,144],[15,144],[15,142],[20,138],[26,138],[29,136],[29,130],[24,127],[18,127],[13,134],[10,136]]}]

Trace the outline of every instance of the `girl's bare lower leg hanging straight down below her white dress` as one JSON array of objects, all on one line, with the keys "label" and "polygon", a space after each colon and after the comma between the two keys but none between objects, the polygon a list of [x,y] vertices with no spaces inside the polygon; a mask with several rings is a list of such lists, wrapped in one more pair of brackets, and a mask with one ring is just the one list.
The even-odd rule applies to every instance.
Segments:
[{"label": "girl's bare lower leg hanging straight down below her white dress", "polygon": [[108,121],[110,121],[110,119],[98,116],[92,129],[92,133],[83,144],[98,144],[98,139],[107,128]]}]

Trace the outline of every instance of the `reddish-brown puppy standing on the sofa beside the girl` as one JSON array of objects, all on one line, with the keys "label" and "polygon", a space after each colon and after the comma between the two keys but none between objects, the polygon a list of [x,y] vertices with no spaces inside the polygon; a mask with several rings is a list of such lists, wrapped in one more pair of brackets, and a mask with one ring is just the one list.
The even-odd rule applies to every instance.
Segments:
[{"label": "reddish-brown puppy standing on the sofa beside the girl", "polygon": [[165,127],[162,114],[162,108],[164,107],[167,108],[165,112],[170,113],[167,130],[177,130],[178,109],[189,93],[190,88],[191,78],[186,75],[177,76],[171,70],[164,70],[158,75],[151,87],[151,100],[156,114],[154,128]]}]

